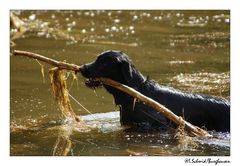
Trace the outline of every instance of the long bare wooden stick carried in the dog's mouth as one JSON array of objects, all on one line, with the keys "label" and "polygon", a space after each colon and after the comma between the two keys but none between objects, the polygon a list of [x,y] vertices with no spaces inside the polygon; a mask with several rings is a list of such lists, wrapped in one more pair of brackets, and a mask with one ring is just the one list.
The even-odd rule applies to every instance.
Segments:
[{"label": "long bare wooden stick carried in the dog's mouth", "polygon": [[[81,66],[78,66],[78,65],[75,65],[75,64],[59,62],[59,61],[44,57],[42,55],[31,53],[31,52],[26,52],[26,51],[15,50],[14,55],[15,56],[27,56],[29,58],[38,59],[40,61],[46,62],[46,63],[51,64],[53,66],[57,66],[57,67],[62,68],[62,69],[73,70],[75,72],[79,72],[79,69],[81,68]],[[175,115],[168,108],[164,107],[163,105],[154,101],[153,99],[144,96],[143,94],[139,93],[138,91],[134,90],[133,88],[130,88],[126,85],[123,85],[119,82],[116,82],[116,81],[108,79],[108,78],[97,78],[97,79],[99,81],[101,81],[102,83],[104,83],[106,85],[109,85],[109,86],[112,86],[116,89],[119,89],[119,90],[131,95],[132,97],[139,99],[144,104],[146,104],[150,107],[153,107],[156,111],[161,112],[166,118],[168,118],[169,120],[174,122],[176,125],[184,126],[185,130],[188,133],[190,133],[191,135],[199,136],[199,137],[211,137],[211,135],[207,131],[205,131],[205,130],[203,130],[203,129],[197,127],[197,126],[194,126],[191,123],[185,121],[182,117]]]}]

